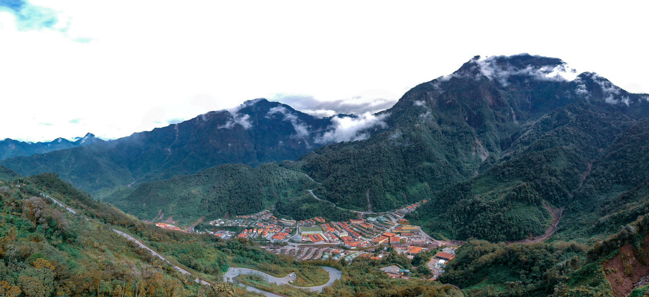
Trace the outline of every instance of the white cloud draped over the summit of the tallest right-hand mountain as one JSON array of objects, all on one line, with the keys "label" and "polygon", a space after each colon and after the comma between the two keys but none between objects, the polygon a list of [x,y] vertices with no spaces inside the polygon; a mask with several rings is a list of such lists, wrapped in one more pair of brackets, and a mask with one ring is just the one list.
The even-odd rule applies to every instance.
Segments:
[{"label": "white cloud draped over the summit of the tallest right-hand mountain", "polygon": [[[480,68],[480,73],[489,80],[500,82],[502,86],[508,86],[508,78],[512,76],[526,76],[536,80],[568,82],[577,78],[576,69],[567,63],[555,59],[545,58],[546,65],[526,65],[519,67],[511,62],[511,59],[525,57],[526,54],[515,56],[489,56],[472,60]],[[543,58],[534,56],[533,58]]]}]

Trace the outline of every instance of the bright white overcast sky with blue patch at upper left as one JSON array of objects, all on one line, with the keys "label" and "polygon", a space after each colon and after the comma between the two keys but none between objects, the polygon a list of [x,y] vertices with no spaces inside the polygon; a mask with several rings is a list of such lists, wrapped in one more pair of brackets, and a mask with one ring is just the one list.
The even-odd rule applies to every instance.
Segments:
[{"label": "bright white overcast sky with blue patch at upper left", "polygon": [[0,0],[0,139],[112,139],[258,97],[384,109],[478,54],[649,92],[649,1],[403,2]]}]

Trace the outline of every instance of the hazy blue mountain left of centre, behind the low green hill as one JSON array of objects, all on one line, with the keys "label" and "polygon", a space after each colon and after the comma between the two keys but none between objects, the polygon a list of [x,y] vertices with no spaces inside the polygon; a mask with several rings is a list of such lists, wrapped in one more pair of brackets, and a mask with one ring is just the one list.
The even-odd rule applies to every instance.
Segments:
[{"label": "hazy blue mountain left of centre, behind the low green hill", "polygon": [[363,120],[355,115],[321,119],[286,104],[255,99],[234,110],[208,112],[149,132],[0,163],[25,175],[56,172],[75,186],[97,193],[119,185],[195,174],[223,163],[256,167],[295,160],[326,143],[380,129],[380,125],[365,125],[351,133],[347,129],[342,136],[337,133],[341,121],[356,119]]}]

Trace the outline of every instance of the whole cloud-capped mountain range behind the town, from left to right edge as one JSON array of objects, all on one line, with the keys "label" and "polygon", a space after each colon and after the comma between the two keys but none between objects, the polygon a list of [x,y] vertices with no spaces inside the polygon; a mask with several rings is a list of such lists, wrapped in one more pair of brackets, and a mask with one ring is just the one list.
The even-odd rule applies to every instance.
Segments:
[{"label": "whole cloud-capped mountain range behind the town, from left to right edge", "polygon": [[[250,212],[275,206],[297,218],[347,215],[315,200],[306,192],[312,189],[339,208],[363,211],[429,199],[409,219],[440,237],[523,239],[544,233],[550,210],[565,208],[576,227],[557,236],[591,238],[604,234],[587,231],[596,216],[626,224],[635,219],[632,209],[644,209],[618,197],[644,193],[636,188],[648,178],[648,116],[649,95],[557,58],[476,56],[374,115],[318,119],[256,99],[151,132],[0,163],[26,175],[58,172],[147,220],[245,213],[232,199],[247,201]],[[281,160],[288,161],[210,169]],[[258,191],[238,191],[238,183]]]}]

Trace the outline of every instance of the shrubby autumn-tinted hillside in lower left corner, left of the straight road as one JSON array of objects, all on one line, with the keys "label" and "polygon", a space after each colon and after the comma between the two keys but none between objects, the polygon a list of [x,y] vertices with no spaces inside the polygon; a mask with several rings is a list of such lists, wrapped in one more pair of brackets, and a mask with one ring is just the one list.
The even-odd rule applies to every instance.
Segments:
[{"label": "shrubby autumn-tinted hillside in lower left corner, left of the straight road", "polygon": [[[9,183],[12,184],[12,183]],[[221,296],[247,294],[229,285],[198,285],[148,251],[113,232],[102,220],[85,220],[40,196],[52,193],[84,213],[121,217],[133,234],[147,229],[108,205],[97,204],[54,176],[34,176],[0,186],[0,294],[3,296]],[[60,191],[60,192],[59,192]],[[121,228],[112,225],[114,228]],[[149,231],[149,235],[153,234]],[[146,236],[146,235],[145,235]],[[160,235],[157,235],[160,237]],[[160,238],[179,244],[180,237]],[[210,261],[227,265],[227,256],[209,247]],[[198,257],[197,261],[206,261]],[[227,267],[227,266],[226,266]],[[219,267],[216,271],[219,271]],[[229,292],[229,293],[228,293]]]}]

